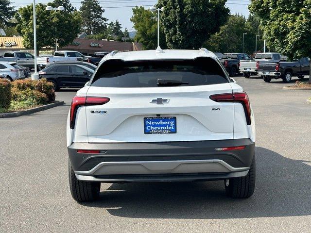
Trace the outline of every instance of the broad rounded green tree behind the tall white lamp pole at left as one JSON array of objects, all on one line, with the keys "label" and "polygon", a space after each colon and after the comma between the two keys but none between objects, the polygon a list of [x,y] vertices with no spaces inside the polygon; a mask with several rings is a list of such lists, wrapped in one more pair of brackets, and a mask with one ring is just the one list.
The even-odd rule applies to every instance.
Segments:
[{"label": "broad rounded green tree behind the tall white lamp pole at left", "polygon": [[[38,50],[43,47],[54,48],[56,39],[59,47],[68,45],[80,32],[80,14],[77,11],[50,12],[45,8],[46,5],[41,3],[35,7]],[[23,45],[29,49],[34,48],[33,6],[19,8],[15,18],[17,32],[24,38]]]}]

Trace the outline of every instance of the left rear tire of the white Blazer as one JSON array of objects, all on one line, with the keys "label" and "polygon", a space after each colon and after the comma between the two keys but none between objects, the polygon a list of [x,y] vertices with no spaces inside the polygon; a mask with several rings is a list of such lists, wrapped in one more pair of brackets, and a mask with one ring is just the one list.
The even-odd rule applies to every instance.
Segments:
[{"label": "left rear tire of the white Blazer", "polygon": [[79,181],[74,174],[70,160],[68,160],[68,172],[70,193],[74,200],[84,202],[98,199],[101,183]]}]

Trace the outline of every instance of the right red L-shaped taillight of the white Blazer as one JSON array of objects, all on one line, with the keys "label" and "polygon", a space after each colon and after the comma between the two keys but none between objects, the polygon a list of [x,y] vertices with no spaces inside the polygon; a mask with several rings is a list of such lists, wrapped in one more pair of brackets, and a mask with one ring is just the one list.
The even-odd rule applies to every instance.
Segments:
[{"label": "right red L-shaped taillight of the white Blazer", "polygon": [[251,124],[251,105],[250,105],[248,96],[245,92],[211,95],[209,97],[209,99],[214,100],[216,102],[238,102],[238,103],[242,103],[242,106],[244,108],[244,113],[245,113],[247,125]]}]

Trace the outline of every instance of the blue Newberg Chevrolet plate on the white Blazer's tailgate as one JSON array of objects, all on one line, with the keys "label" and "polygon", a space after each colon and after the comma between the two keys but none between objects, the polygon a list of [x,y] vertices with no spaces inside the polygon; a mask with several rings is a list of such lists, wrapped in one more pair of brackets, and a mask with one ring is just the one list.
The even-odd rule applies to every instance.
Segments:
[{"label": "blue Newberg Chevrolet plate on the white Blazer's tailgate", "polygon": [[176,133],[175,116],[144,117],[145,134]]}]

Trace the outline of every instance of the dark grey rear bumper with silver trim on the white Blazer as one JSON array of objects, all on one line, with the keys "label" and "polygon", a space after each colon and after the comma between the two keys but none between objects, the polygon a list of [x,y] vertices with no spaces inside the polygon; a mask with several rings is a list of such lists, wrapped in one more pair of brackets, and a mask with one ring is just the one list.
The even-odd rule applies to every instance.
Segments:
[{"label": "dark grey rear bumper with silver trim on the white Blazer", "polygon": [[[215,148],[245,146],[243,150]],[[100,154],[77,150],[100,150]],[[245,176],[254,156],[250,139],[157,142],[73,143],[69,159],[78,180],[156,182],[222,180]]]}]

